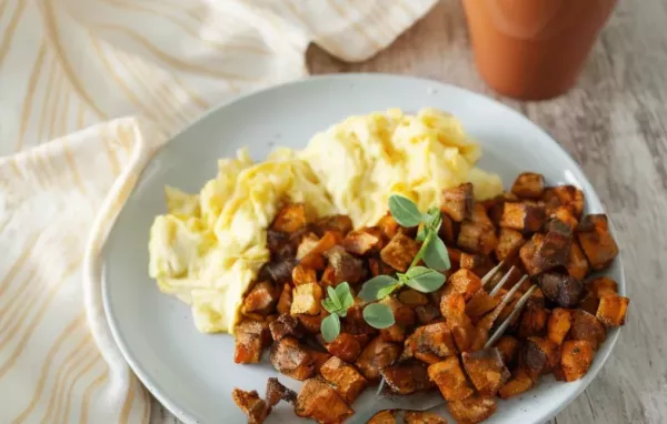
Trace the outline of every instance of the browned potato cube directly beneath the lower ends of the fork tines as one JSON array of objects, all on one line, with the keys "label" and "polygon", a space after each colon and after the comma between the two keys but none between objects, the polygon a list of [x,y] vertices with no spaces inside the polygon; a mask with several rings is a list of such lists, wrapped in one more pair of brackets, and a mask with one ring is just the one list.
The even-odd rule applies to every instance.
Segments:
[{"label": "browned potato cube directly beneath the lower ends of the fork tines", "polygon": [[496,347],[464,352],[461,359],[466,374],[481,395],[495,396],[510,377],[500,351]]}]

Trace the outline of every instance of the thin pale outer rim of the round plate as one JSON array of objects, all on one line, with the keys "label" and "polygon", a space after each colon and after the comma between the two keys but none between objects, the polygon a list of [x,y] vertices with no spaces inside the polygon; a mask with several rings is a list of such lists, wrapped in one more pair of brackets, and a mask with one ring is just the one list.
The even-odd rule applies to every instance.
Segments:
[{"label": "thin pale outer rim of the round plate", "polygon": [[[143,169],[141,170],[139,178],[137,179],[135,185],[132,186],[132,190],[130,191],[130,194],[126,201],[127,202],[130,201],[132,194],[136,192],[137,188],[140,186],[141,181],[143,179],[143,171],[146,169],[148,169],[149,164],[156,159],[159,158],[160,153],[162,153],[165,150],[169,149],[169,145],[175,144],[176,139],[179,139],[181,137],[181,134],[186,133],[187,131],[191,130],[193,127],[198,125],[201,121],[203,121],[205,119],[207,119],[208,117],[218,113],[220,110],[223,110],[225,108],[228,108],[237,102],[241,102],[243,100],[247,100],[249,98],[256,97],[256,95],[261,95],[266,92],[270,92],[270,91],[276,91],[276,90],[285,90],[288,89],[291,85],[299,85],[299,84],[303,84],[303,83],[310,83],[310,82],[317,82],[317,81],[323,81],[323,80],[357,80],[358,79],[401,79],[405,80],[407,82],[418,82],[418,83],[430,83],[434,85],[435,89],[437,89],[438,87],[441,88],[446,88],[447,90],[454,90],[454,91],[459,91],[466,95],[470,95],[472,98],[479,99],[479,100],[485,100],[485,101],[490,101],[492,103],[495,103],[495,105],[500,107],[501,109],[505,110],[505,112],[514,114],[517,119],[524,120],[527,123],[531,124],[532,127],[535,127],[538,131],[542,132],[544,135],[546,135],[550,143],[552,144],[552,147],[555,147],[556,149],[559,149],[561,151],[561,153],[564,153],[564,157],[569,161],[569,165],[577,169],[579,171],[579,173],[584,176],[584,181],[583,183],[588,185],[589,191],[595,195],[597,202],[600,204],[601,210],[605,211],[604,204],[600,201],[597,191],[595,190],[595,188],[593,186],[593,184],[590,183],[588,176],[586,175],[586,173],[584,172],[584,170],[581,169],[581,166],[579,165],[579,163],[570,155],[570,153],[565,150],[565,148],[558,143],[558,141],[556,141],[555,138],[552,138],[546,130],[544,130],[541,127],[539,127],[537,123],[532,122],[530,119],[528,119],[528,117],[526,117],[525,114],[520,113],[519,111],[510,108],[509,105],[491,98],[488,95],[485,95],[482,93],[478,93],[475,91],[471,91],[469,89],[456,85],[456,84],[451,84],[451,83],[447,83],[447,82],[442,82],[442,81],[438,81],[438,80],[434,80],[434,79],[429,79],[429,78],[421,78],[421,77],[414,77],[414,75],[405,75],[405,74],[397,74],[397,73],[372,73],[372,72],[351,72],[351,73],[335,73],[335,74],[320,74],[320,75],[308,75],[306,78],[299,78],[296,80],[291,80],[291,81],[287,81],[287,82],[282,82],[282,83],[278,83],[278,84],[273,84],[273,85],[269,85],[269,87],[263,87],[263,88],[259,88],[256,90],[250,90],[243,94],[233,97],[227,101],[220,102],[217,105],[215,105],[213,108],[209,109],[208,111],[203,112],[201,115],[199,115],[197,119],[195,119],[192,122],[190,122],[188,125],[186,125],[183,129],[181,129],[180,131],[178,131],[177,133],[175,133],[173,135],[171,135],[169,138],[169,140],[167,142],[165,142],[165,144],[150,158],[150,160],[145,164]],[[356,81],[355,81],[356,82]],[[125,205],[121,208],[125,209]],[[120,212],[117,215],[117,218],[120,216]],[[102,245],[101,249],[101,290],[102,290],[102,305],[103,305],[103,310],[104,310],[104,316],[107,319],[107,322],[109,324],[109,329],[111,331],[111,335],[113,337],[113,341],[116,342],[117,346],[119,347],[120,352],[122,353],[126,362],[128,363],[128,365],[130,366],[131,371],[133,372],[133,374],[139,378],[139,381],[143,384],[143,386],[150,392],[150,394],[152,396],[155,396],[170,413],[172,413],[175,416],[177,416],[179,420],[181,420],[183,423],[186,424],[200,424],[200,421],[196,417],[193,412],[187,412],[187,408],[183,407],[182,405],[180,405],[180,403],[178,402],[178,400],[171,400],[168,398],[167,395],[165,394],[165,391],[161,390],[160,387],[158,387],[158,385],[156,384],[155,381],[152,381],[151,377],[148,376],[147,373],[145,373],[142,371],[141,365],[139,364],[139,362],[136,360],[135,355],[131,353],[131,349],[128,345],[128,343],[125,341],[122,334],[120,333],[120,325],[116,320],[115,316],[115,312],[113,309],[110,304],[110,300],[109,300],[109,282],[107,281],[106,277],[106,272],[104,269],[107,266],[107,242],[111,236],[111,233],[113,232],[113,230],[116,229],[118,220],[116,219],[113,221],[113,223],[111,224],[108,235],[104,239],[104,243]],[[615,225],[611,221],[609,221],[609,226],[611,230],[611,233],[614,235],[618,234],[618,232],[615,229]],[[623,294],[627,293],[627,286],[626,286],[626,276],[625,276],[625,267],[624,267],[624,263],[623,263],[623,254],[621,252],[619,252],[618,256],[616,258],[616,265],[618,267],[618,274],[620,276],[619,281],[618,281],[618,285],[619,289],[621,290]],[[607,337],[606,340],[606,344],[609,345],[608,350],[601,355],[599,356],[599,366],[590,370],[589,372],[589,381],[587,384],[580,384],[576,391],[574,391],[571,393],[570,396],[568,396],[566,398],[565,402],[563,402],[561,404],[559,404],[557,407],[551,407],[548,408],[549,413],[548,414],[542,414],[542,416],[537,417],[537,420],[535,421],[535,423],[540,423],[542,421],[549,420],[554,416],[556,416],[558,413],[560,413],[563,410],[565,410],[565,407],[567,407],[569,404],[571,404],[571,402],[577,398],[586,388],[588,388],[588,386],[590,385],[590,383],[593,383],[595,381],[595,378],[597,378],[599,372],[604,369],[605,364],[607,363],[607,361],[609,360],[609,356],[611,355],[611,353],[614,352],[614,349],[616,347],[616,343],[618,341],[618,337],[620,336],[620,332],[621,332],[623,327],[617,327],[614,331],[614,334],[609,337]]]}]

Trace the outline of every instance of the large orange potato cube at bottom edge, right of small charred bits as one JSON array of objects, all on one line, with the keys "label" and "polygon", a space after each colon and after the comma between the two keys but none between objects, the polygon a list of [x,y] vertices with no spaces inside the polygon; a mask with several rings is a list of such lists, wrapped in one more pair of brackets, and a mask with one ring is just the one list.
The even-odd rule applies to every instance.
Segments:
[{"label": "large orange potato cube at bottom edge, right of small charred bits", "polygon": [[320,378],[309,378],[297,397],[295,413],[321,424],[341,424],[352,411],[334,387]]}]

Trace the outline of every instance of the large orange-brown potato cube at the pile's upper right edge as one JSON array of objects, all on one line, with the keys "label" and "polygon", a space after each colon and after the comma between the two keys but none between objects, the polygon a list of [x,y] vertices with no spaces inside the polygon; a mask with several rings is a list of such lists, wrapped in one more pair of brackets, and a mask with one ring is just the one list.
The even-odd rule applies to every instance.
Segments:
[{"label": "large orange-brown potato cube at the pile's upper right edge", "polygon": [[609,232],[605,214],[586,215],[577,228],[577,239],[596,271],[608,267],[618,255],[618,245]]}]

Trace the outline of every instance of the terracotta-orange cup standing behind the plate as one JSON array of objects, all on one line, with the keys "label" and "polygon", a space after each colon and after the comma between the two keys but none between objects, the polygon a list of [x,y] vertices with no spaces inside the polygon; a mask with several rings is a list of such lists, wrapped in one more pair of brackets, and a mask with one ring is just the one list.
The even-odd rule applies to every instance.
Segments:
[{"label": "terracotta-orange cup standing behind the plate", "polygon": [[500,94],[569,90],[617,0],[465,0],[477,69]]}]

